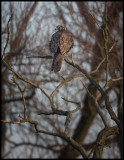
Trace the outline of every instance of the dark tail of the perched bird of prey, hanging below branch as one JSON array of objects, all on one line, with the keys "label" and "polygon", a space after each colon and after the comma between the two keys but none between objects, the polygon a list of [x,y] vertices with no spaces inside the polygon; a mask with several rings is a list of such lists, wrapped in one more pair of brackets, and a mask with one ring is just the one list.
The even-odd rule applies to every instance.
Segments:
[{"label": "dark tail of the perched bird of prey, hanging below branch", "polygon": [[65,55],[61,53],[59,53],[57,56],[54,57],[51,71],[54,70],[55,73],[60,71],[64,57]]}]

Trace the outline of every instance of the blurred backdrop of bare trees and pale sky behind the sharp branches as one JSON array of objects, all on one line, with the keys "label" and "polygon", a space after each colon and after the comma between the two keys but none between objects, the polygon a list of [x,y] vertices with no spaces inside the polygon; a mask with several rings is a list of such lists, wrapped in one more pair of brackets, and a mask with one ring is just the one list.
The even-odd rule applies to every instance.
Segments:
[{"label": "blurred backdrop of bare trees and pale sky behind the sharp branches", "polygon": [[[101,27],[105,27],[105,2],[2,2],[1,3],[1,37],[2,53],[7,41],[9,23],[9,42],[6,55],[11,66],[24,78],[41,86],[48,95],[63,81],[74,75],[81,74],[76,68],[63,62],[62,69],[55,74],[50,71],[52,60],[27,58],[34,55],[51,55],[49,41],[55,32],[55,27],[64,24],[72,33],[74,46],[67,58],[87,72],[96,69],[105,57],[104,38]],[[123,73],[123,4],[114,1],[107,3],[108,15],[108,48],[115,38],[118,40],[109,56],[109,80],[122,77]],[[94,17],[94,18],[93,18]],[[19,121],[23,115],[23,100],[17,86],[13,83],[12,72],[1,65],[1,93],[3,120]],[[92,77],[101,87],[106,81],[106,63],[103,63]],[[65,102],[62,98],[81,103],[80,111],[72,116],[70,136],[82,144],[89,153],[95,144],[98,133],[104,124],[97,114],[91,98],[88,96],[80,80],[88,86],[96,97],[96,88],[83,77],[78,77],[66,83],[54,97],[56,107],[62,110],[75,109],[75,105]],[[31,85],[17,79],[25,89],[27,117],[39,122],[39,128],[57,132],[64,131],[65,117],[59,115],[37,115],[38,111],[51,111],[47,97]],[[119,118],[119,107],[122,107],[123,85],[117,81],[106,88],[106,93],[112,109]],[[115,122],[105,109],[103,99],[99,104],[103,108],[111,126]],[[37,134],[34,126],[29,123],[2,124],[1,155],[2,158],[81,158],[80,154],[64,140],[45,134]],[[108,146],[104,148],[103,158],[120,158],[121,148],[119,136],[110,136]]]}]

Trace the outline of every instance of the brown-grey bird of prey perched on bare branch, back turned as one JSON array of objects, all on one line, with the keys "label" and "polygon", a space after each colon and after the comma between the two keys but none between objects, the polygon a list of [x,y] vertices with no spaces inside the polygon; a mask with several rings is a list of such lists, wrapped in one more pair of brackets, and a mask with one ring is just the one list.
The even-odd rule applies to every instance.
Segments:
[{"label": "brown-grey bird of prey perched on bare branch, back turned", "polygon": [[49,43],[50,51],[54,54],[51,71],[59,72],[64,57],[73,47],[72,34],[66,30],[64,25],[56,27],[57,32],[52,35]]}]

